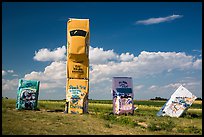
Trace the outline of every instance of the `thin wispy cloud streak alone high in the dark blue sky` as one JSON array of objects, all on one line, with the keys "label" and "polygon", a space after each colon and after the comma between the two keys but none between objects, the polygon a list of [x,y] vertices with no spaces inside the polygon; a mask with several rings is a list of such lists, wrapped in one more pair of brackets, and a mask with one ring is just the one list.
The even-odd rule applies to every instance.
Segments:
[{"label": "thin wispy cloud streak alone high in the dark blue sky", "polygon": [[151,25],[151,24],[158,24],[158,23],[162,23],[162,22],[168,22],[168,21],[172,21],[178,18],[183,17],[182,15],[171,15],[171,16],[167,16],[167,17],[159,17],[159,18],[149,18],[146,20],[139,20],[136,22],[136,24],[144,24],[144,25]]}]

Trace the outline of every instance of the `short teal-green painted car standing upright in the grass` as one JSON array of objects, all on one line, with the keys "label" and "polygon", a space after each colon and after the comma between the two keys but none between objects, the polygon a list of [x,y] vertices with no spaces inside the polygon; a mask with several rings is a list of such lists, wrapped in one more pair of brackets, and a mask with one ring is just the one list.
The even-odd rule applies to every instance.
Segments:
[{"label": "short teal-green painted car standing upright in the grass", "polygon": [[40,81],[19,79],[16,109],[37,109]]}]

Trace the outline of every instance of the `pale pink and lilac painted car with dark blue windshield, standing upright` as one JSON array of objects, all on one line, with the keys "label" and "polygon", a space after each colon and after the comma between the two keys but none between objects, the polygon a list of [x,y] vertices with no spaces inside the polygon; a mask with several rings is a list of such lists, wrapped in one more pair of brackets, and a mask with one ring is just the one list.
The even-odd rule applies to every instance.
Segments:
[{"label": "pale pink and lilac painted car with dark blue windshield, standing upright", "polygon": [[112,94],[114,114],[134,113],[134,94],[131,77],[113,77]]}]

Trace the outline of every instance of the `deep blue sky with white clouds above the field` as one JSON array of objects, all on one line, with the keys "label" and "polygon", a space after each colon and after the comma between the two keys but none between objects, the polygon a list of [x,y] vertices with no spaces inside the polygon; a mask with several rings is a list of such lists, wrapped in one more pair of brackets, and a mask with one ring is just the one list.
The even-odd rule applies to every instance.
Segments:
[{"label": "deep blue sky with white clouds above the field", "polygon": [[112,99],[132,77],[134,99],[202,98],[202,2],[2,2],[2,96],[39,80],[39,100],[65,99],[67,21],[90,20],[89,99]]}]

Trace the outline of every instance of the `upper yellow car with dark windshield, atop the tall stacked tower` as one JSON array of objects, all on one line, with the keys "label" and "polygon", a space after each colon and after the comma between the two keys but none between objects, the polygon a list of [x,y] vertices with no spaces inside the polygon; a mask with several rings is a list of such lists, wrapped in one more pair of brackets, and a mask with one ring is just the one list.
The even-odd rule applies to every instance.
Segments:
[{"label": "upper yellow car with dark windshield, atop the tall stacked tower", "polygon": [[88,79],[89,19],[69,19],[67,22],[67,77]]}]

